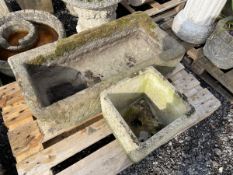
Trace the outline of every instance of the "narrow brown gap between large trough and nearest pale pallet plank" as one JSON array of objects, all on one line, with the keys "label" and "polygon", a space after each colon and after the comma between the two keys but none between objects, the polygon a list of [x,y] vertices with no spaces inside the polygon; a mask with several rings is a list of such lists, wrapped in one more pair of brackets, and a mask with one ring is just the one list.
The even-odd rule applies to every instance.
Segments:
[{"label": "narrow brown gap between large trough and nearest pale pallet plank", "polygon": [[71,130],[69,130],[67,132],[63,132],[62,134],[60,134],[60,135],[58,135],[58,136],[56,136],[56,137],[54,137],[54,138],[52,138],[52,139],[44,142],[43,143],[44,149],[46,149],[46,148],[48,148],[48,147],[50,147],[50,146],[58,143],[59,141],[65,139],[65,138],[67,138],[67,137],[69,137],[69,136],[71,136],[73,134],[75,134],[76,132],[78,132],[78,131],[80,131],[80,130],[82,130],[82,129],[88,127],[88,126],[90,126],[91,124],[93,124],[93,123],[101,120],[102,118],[103,118],[102,115],[97,115],[97,116],[95,116],[95,117],[93,117],[93,118],[91,118],[89,120],[86,120],[86,121],[82,122],[77,127],[73,128],[73,129],[71,129]]}]

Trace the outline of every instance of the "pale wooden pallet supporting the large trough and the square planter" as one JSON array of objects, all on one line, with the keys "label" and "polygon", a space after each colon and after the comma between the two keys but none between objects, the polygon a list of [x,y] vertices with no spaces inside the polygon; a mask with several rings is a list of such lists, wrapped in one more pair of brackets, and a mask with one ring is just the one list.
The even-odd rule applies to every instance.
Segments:
[{"label": "pale wooden pallet supporting the large trough and the square planter", "polygon": [[[208,117],[220,106],[220,102],[207,89],[203,89],[199,81],[187,73],[181,64],[169,75],[169,79],[195,107],[196,123]],[[52,175],[54,167],[59,167],[62,162],[112,134],[100,114],[90,117],[72,130],[43,142],[43,135],[16,83],[0,88],[0,102],[20,175]],[[190,126],[196,123],[190,123]],[[56,174],[112,175],[131,164],[132,162],[113,137],[109,143],[100,146]]]}]

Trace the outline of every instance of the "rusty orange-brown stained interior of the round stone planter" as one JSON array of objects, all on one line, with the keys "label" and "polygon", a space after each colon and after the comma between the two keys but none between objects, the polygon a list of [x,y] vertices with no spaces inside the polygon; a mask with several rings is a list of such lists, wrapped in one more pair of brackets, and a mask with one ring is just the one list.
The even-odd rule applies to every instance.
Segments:
[{"label": "rusty orange-brown stained interior of the round stone planter", "polygon": [[[35,25],[38,28],[38,40],[32,48],[36,48],[44,44],[52,43],[58,40],[57,32],[51,27],[47,25],[43,25],[43,24],[35,24]],[[13,46],[18,45],[19,39],[23,38],[26,35],[27,35],[26,31],[16,32],[9,36],[8,42]],[[32,49],[32,48],[29,48],[29,49]],[[20,52],[23,52],[23,51],[20,51]],[[8,51],[0,47],[0,60],[7,60],[9,57],[16,55],[20,52]]]}]

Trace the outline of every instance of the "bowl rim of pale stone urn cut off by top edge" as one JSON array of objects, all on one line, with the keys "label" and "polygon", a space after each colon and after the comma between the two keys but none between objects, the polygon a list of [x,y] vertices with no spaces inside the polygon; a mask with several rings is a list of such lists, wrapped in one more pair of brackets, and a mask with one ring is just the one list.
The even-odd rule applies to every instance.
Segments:
[{"label": "bowl rim of pale stone urn cut off by top edge", "polygon": [[122,0],[63,0],[65,3],[83,9],[103,9],[118,4]]}]

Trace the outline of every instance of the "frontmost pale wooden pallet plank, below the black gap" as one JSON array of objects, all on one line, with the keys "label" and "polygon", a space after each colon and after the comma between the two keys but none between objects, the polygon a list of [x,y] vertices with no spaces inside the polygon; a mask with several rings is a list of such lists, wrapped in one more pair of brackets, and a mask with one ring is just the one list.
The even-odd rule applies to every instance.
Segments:
[{"label": "frontmost pale wooden pallet plank, below the black gap", "polygon": [[123,148],[113,141],[58,175],[115,175],[131,164]]}]

